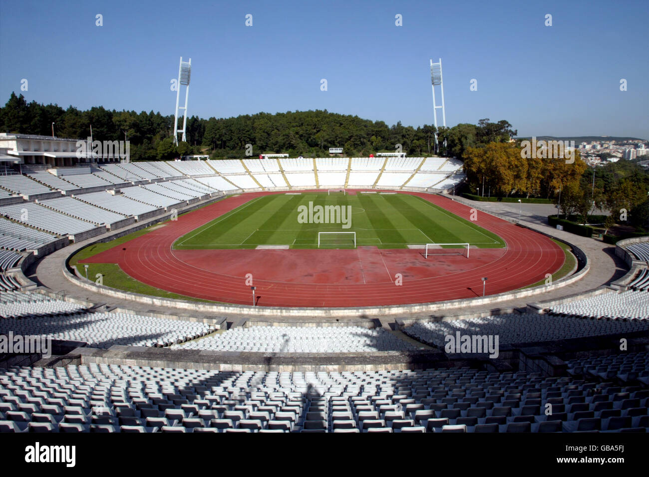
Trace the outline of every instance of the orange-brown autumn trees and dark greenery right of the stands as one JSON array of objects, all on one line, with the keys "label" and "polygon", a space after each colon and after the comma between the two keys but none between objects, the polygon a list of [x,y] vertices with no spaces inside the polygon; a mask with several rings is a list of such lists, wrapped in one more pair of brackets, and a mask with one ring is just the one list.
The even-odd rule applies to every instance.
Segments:
[{"label": "orange-brown autumn trees and dark greenery right of the stands", "polygon": [[521,150],[519,141],[467,147],[465,190],[498,197],[554,199],[561,214],[581,217],[582,223],[598,208],[610,213],[607,229],[624,222],[647,230],[649,171],[641,165],[622,159],[593,168],[583,162],[579,151],[574,162],[566,164],[564,158],[525,158]]}]

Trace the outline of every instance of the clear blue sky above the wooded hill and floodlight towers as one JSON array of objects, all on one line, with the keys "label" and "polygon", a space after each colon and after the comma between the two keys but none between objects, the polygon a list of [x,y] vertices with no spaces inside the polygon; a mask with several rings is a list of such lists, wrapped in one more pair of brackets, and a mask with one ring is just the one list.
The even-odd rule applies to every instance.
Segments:
[{"label": "clear blue sky above the wooded hill and floodlight towers", "polygon": [[442,58],[448,126],[649,138],[646,0],[175,5],[0,0],[0,102],[24,78],[27,101],[173,114],[183,56],[190,116],[327,109],[416,127],[433,123],[428,60]]}]

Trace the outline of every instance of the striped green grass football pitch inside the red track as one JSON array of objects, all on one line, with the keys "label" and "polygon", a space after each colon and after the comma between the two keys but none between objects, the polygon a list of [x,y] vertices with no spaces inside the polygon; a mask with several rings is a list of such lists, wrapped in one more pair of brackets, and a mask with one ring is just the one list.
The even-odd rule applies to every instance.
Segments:
[{"label": "striped green grass football pitch inside the red track", "polygon": [[325,192],[257,197],[180,237],[174,248],[354,247],[353,234],[318,232],[356,232],[357,247],[374,245],[380,249],[405,249],[426,243],[505,247],[504,241],[492,232],[415,195]]}]

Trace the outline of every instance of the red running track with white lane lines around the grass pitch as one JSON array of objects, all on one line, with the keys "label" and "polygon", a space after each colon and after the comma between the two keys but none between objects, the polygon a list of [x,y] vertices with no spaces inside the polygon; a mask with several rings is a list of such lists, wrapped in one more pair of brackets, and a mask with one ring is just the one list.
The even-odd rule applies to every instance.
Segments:
[{"label": "red running track with white lane lines around the grass pitch", "polygon": [[[563,265],[561,248],[542,234],[478,212],[477,225],[500,236],[505,249],[471,249],[470,258],[422,250],[173,250],[174,241],[260,195],[256,192],[178,217],[148,234],[83,263],[117,263],[136,280],[200,299],[251,304],[251,273],[258,306],[352,307],[456,300],[518,289]],[[284,193],[284,192],[279,192]],[[439,195],[405,192],[469,220],[471,208]],[[125,249],[125,250],[124,250]],[[402,276],[402,285],[395,278]],[[110,283],[105,283],[110,286]]]}]

